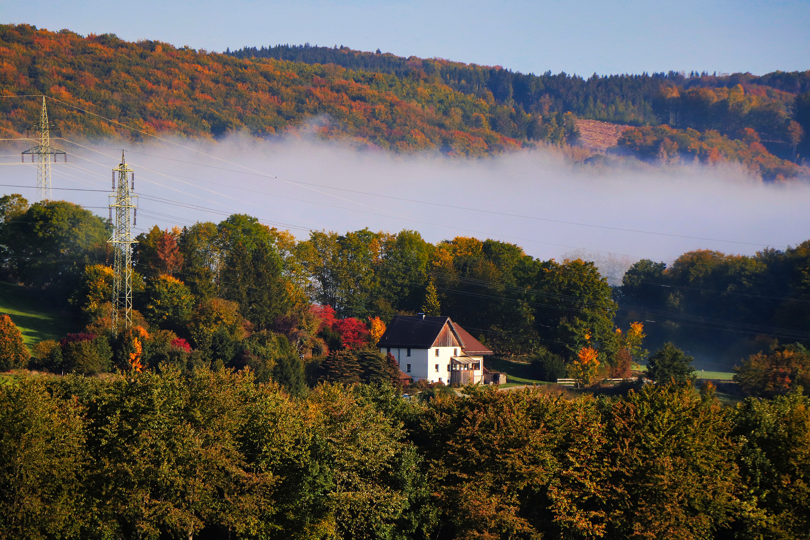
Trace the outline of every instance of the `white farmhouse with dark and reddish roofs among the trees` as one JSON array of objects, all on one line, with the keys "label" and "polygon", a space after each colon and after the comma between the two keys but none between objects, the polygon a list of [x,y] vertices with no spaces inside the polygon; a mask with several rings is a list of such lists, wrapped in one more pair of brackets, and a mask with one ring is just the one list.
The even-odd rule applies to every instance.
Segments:
[{"label": "white farmhouse with dark and reddish roofs among the trees", "polygon": [[399,370],[415,381],[445,385],[484,382],[487,347],[450,317],[396,315],[377,343],[382,354],[390,353]]}]

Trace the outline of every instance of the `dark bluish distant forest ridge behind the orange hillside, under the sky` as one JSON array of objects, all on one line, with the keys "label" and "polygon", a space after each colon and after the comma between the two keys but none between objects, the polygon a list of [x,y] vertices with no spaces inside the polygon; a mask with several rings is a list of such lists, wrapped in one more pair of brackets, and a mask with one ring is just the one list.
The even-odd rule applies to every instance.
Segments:
[{"label": "dark bluish distant forest ridge behind the orange hillside, under the sky", "polygon": [[[790,122],[810,127],[810,70],[762,76],[750,73],[689,75],[522,74],[501,66],[476,66],[441,58],[396,57],[343,47],[276,45],[230,52],[240,58],[278,58],[335,63],[356,70],[396,74],[424,72],[458,91],[489,96],[529,113],[572,112],[578,117],[629,125],[717,130],[734,136],[746,127],[763,140],[791,144]],[[797,99],[798,97],[798,99]]]}]

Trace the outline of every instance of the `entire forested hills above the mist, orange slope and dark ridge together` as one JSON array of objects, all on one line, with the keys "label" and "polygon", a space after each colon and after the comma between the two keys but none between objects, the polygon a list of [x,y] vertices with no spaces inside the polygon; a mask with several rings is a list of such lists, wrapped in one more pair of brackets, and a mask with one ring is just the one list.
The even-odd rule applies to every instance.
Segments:
[{"label": "entire forested hills above the mist, orange slope and dark ridge together", "polygon": [[[781,180],[808,176],[798,165],[810,132],[807,86],[808,72],[582,79],[345,47],[208,53],[0,25],[0,94],[49,96],[53,120],[87,138],[143,137],[108,118],[147,134],[272,137],[303,129],[396,152],[483,156],[575,144],[582,117],[671,130],[646,134],[641,147],[638,137],[622,140],[616,154],[625,159],[731,160]],[[0,133],[22,134],[36,106],[2,99]]]}]

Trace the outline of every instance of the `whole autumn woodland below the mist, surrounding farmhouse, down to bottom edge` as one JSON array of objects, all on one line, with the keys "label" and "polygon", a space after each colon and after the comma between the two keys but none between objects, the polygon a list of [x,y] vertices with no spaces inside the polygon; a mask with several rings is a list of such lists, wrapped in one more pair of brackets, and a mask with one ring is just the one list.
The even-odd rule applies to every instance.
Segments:
[{"label": "whole autumn woodland below the mist, surrounding farmhouse, down to bottom edge", "polygon": [[[0,316],[2,539],[808,538],[808,243],[612,288],[495,240],[231,215],[140,235],[113,327],[109,223],[19,195],[0,214],[6,279],[79,321],[29,350]],[[583,389],[403,389],[374,344],[416,310]],[[693,385],[679,347],[707,345],[758,347],[740,406]]]}]

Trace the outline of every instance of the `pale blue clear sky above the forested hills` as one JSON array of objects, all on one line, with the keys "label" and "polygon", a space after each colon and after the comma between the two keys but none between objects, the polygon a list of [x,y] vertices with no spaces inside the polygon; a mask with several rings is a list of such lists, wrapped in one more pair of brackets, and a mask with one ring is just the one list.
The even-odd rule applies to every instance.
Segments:
[{"label": "pale blue clear sky above the forested hills", "polygon": [[208,51],[379,48],[535,74],[810,69],[810,0],[0,0],[0,21]]}]

